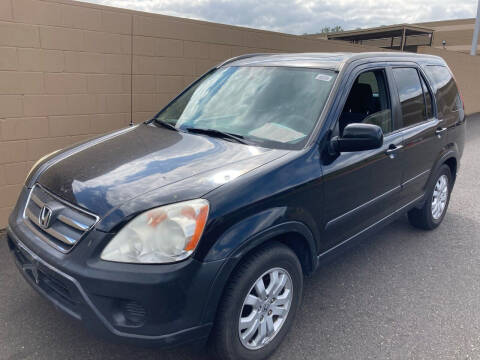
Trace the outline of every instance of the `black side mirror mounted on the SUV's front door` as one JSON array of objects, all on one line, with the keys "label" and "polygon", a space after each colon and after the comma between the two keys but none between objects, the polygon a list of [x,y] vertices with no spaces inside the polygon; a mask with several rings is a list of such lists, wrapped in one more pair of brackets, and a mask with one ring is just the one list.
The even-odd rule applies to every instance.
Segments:
[{"label": "black side mirror mounted on the SUV's front door", "polygon": [[354,123],[343,129],[343,136],[335,136],[330,140],[329,152],[363,151],[378,149],[383,145],[383,131],[373,124]]}]

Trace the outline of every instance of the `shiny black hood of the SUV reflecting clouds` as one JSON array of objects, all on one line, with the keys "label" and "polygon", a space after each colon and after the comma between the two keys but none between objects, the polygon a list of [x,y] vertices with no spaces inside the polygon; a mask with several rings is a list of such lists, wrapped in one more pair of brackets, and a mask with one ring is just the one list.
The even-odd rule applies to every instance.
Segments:
[{"label": "shiny black hood of the SUV reflecting clouds", "polygon": [[37,182],[104,216],[152,190],[182,180],[185,186],[189,178],[189,196],[202,196],[285,153],[141,124],[59,153]]}]

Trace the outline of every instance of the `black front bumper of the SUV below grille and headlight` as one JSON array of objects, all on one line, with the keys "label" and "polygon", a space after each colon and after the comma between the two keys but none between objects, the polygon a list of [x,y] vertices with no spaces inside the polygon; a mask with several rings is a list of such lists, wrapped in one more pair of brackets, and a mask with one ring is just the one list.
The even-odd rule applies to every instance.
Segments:
[{"label": "black front bumper of the SUV below grille and headlight", "polygon": [[93,231],[71,254],[59,255],[21,225],[7,231],[8,245],[27,282],[96,335],[162,347],[205,341],[212,327],[204,317],[208,296],[223,262],[80,261],[91,254],[87,250],[98,243],[96,237],[104,235]]}]

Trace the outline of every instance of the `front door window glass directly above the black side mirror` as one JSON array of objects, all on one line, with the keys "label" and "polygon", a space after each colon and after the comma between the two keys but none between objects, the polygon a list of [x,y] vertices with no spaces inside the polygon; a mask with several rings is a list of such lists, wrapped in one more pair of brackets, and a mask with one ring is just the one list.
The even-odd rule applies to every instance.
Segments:
[{"label": "front door window glass directly above the black side mirror", "polygon": [[348,95],[339,119],[340,136],[349,124],[378,125],[384,134],[392,132],[392,111],[384,70],[360,74]]}]

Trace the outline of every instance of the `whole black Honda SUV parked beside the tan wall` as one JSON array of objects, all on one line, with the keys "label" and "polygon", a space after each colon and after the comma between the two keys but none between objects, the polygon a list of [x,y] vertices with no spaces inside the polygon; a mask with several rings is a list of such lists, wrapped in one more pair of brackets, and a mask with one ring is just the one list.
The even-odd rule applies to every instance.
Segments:
[{"label": "whole black Honda SUV parked beside the tan wall", "polygon": [[439,57],[241,56],[150,121],[39,160],[8,244],[96,333],[264,359],[321,261],[405,213],[442,222],[464,139]]}]

